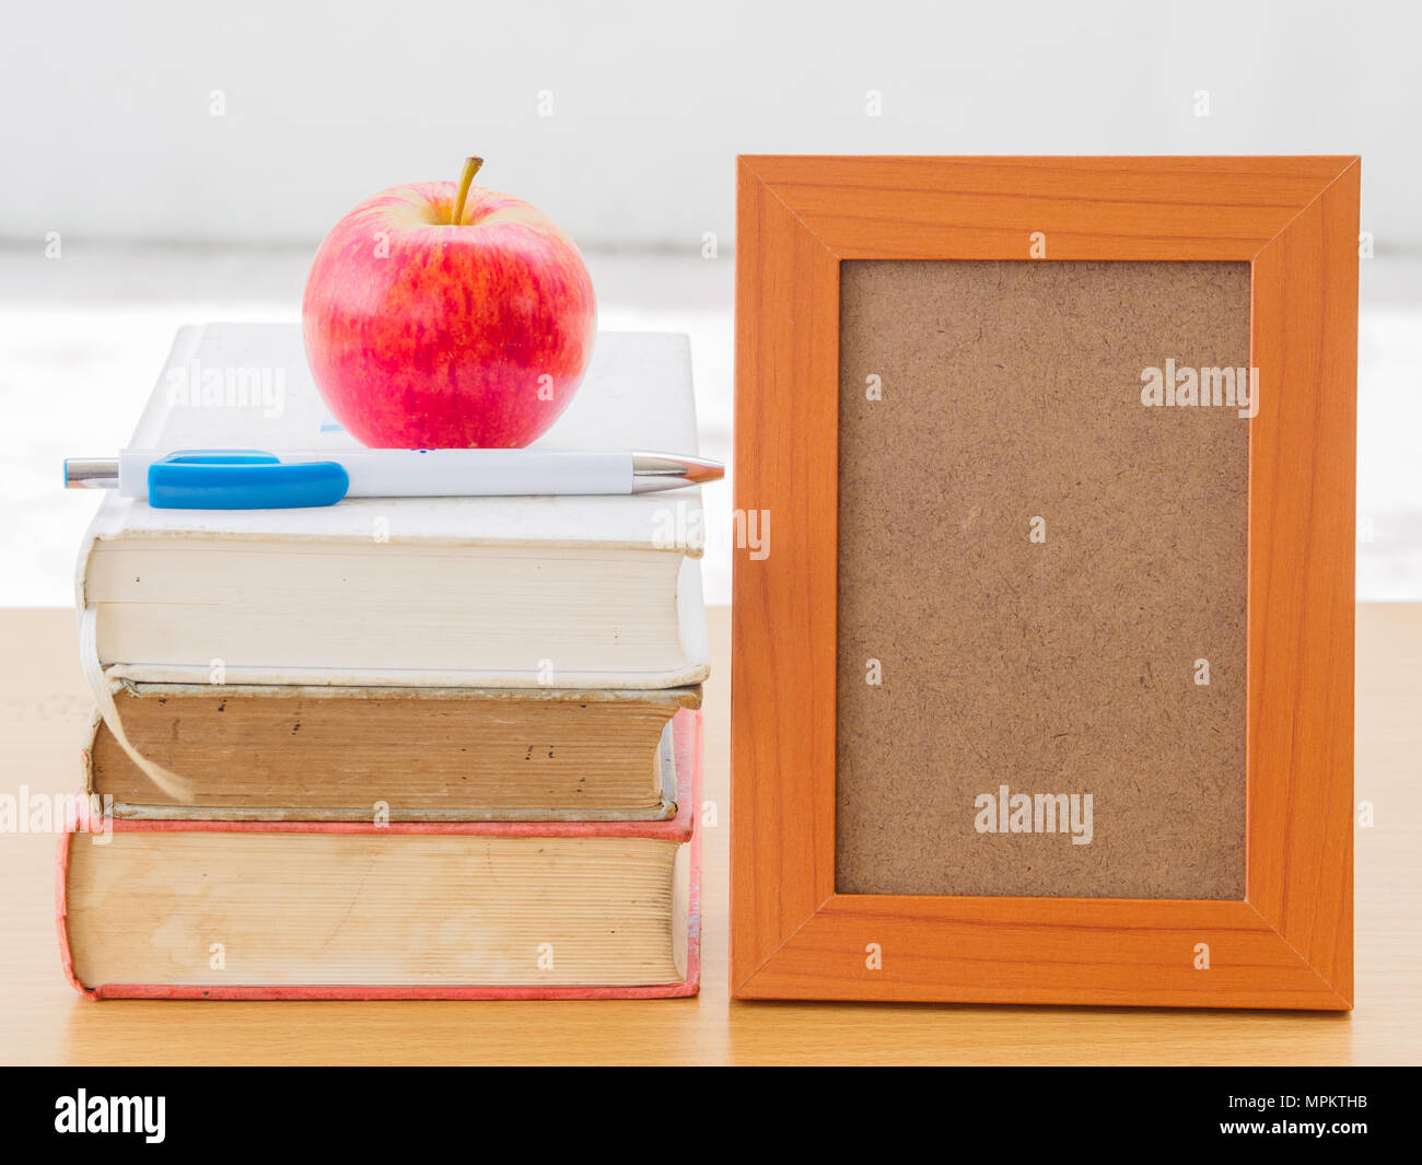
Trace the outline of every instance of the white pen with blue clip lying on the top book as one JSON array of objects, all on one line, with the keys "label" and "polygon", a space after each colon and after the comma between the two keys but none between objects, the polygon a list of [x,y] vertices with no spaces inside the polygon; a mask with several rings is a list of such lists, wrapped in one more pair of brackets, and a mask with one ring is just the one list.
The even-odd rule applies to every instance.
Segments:
[{"label": "white pen with blue clip lying on the top book", "polygon": [[724,475],[717,461],[563,449],[124,449],[70,458],[70,489],[117,489],[158,508],[289,509],[341,498],[648,494]]}]

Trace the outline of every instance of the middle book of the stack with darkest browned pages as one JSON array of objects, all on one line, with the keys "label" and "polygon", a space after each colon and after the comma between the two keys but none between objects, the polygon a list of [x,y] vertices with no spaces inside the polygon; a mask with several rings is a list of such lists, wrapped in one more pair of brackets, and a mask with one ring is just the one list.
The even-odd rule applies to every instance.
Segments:
[{"label": "middle book of the stack with darkest browned pages", "polygon": [[700,687],[134,684],[97,720],[87,792],[115,816],[222,821],[661,821],[671,718]]}]

